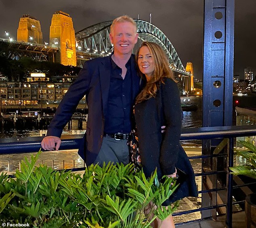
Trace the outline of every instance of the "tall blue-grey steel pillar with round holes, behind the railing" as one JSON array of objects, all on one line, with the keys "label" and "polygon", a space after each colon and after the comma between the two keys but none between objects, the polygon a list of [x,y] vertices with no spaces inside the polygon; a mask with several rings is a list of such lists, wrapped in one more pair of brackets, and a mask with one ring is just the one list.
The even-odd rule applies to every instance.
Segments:
[{"label": "tall blue-grey steel pillar with round holes, behind the railing", "polygon": [[[234,0],[204,0],[203,127],[232,125],[233,52]],[[204,140],[203,155],[216,144]],[[202,166],[211,171],[212,160],[203,160]],[[209,196],[203,195],[202,206],[211,204]],[[202,213],[203,218],[210,216],[209,211]]]}]

